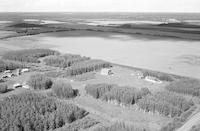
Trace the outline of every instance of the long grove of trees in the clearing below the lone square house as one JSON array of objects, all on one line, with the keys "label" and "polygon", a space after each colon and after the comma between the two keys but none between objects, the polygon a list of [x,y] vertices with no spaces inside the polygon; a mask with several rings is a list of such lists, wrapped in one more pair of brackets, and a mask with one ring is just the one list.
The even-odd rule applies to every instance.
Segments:
[{"label": "long grove of trees in the clearing below the lone square house", "polygon": [[85,90],[96,99],[117,101],[120,104],[135,104],[142,97],[150,94],[147,88],[120,87],[110,84],[86,85]]}]

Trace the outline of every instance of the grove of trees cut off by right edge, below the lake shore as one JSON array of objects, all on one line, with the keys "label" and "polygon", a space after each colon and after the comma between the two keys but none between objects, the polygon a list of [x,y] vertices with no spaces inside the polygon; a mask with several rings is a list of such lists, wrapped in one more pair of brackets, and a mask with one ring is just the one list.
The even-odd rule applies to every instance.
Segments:
[{"label": "grove of trees cut off by right edge, below the lake shore", "polygon": [[196,79],[180,79],[171,82],[166,89],[172,92],[200,96],[200,81]]}]

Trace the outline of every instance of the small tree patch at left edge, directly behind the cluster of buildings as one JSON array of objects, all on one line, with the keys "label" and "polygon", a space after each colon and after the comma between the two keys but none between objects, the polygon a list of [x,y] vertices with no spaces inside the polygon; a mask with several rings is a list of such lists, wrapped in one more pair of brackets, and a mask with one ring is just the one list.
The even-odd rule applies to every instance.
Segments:
[{"label": "small tree patch at left edge, directly behind the cluster of buildings", "polygon": [[24,68],[24,67],[25,67],[25,64],[0,59],[0,72],[5,71],[5,70],[15,70],[15,69]]}]

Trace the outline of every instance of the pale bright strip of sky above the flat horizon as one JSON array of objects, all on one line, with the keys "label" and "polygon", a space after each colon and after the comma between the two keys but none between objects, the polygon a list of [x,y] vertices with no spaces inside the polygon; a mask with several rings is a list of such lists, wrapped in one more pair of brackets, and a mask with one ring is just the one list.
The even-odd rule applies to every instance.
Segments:
[{"label": "pale bright strip of sky above the flat horizon", "polygon": [[200,0],[0,0],[0,12],[200,12]]}]

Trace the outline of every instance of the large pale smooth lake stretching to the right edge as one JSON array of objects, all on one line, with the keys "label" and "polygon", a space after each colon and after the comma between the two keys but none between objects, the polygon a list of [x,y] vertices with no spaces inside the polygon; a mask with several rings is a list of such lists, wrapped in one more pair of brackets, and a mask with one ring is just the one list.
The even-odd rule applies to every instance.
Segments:
[{"label": "large pale smooth lake stretching to the right edge", "polygon": [[62,32],[33,36],[62,53],[200,78],[200,41],[140,38],[118,33]]}]

